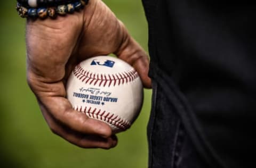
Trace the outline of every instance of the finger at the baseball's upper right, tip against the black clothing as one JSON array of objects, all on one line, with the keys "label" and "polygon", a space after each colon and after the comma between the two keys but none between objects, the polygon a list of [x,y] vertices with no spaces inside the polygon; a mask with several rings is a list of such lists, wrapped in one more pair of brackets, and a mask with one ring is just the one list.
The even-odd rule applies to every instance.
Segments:
[{"label": "finger at the baseball's upper right, tip against the black clothing", "polygon": [[151,88],[151,79],[148,77],[149,57],[143,48],[127,32],[124,24],[119,21],[123,40],[120,47],[114,52],[121,60],[129,63],[139,73],[143,86]]}]

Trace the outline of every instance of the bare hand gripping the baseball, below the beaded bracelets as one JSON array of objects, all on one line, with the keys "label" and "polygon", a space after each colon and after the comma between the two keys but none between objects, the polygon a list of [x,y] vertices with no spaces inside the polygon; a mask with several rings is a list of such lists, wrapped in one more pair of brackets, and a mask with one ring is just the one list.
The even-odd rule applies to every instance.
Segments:
[{"label": "bare hand gripping the baseball, below the beaded bracelets", "polygon": [[103,122],[73,110],[66,99],[67,77],[76,64],[97,55],[116,54],[139,73],[150,88],[148,56],[122,22],[100,0],[56,20],[28,20],[27,80],[50,129],[84,148],[111,148],[117,138]]}]

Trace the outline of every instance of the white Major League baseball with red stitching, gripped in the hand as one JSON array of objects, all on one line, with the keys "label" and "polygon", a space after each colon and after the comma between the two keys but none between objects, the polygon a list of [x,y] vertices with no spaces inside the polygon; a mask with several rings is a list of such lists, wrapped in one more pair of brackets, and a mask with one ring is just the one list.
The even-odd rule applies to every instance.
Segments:
[{"label": "white Major League baseball with red stitching, gripped in the hand", "polygon": [[143,101],[138,73],[111,56],[92,57],[76,65],[66,89],[76,111],[109,124],[114,133],[131,127]]}]

